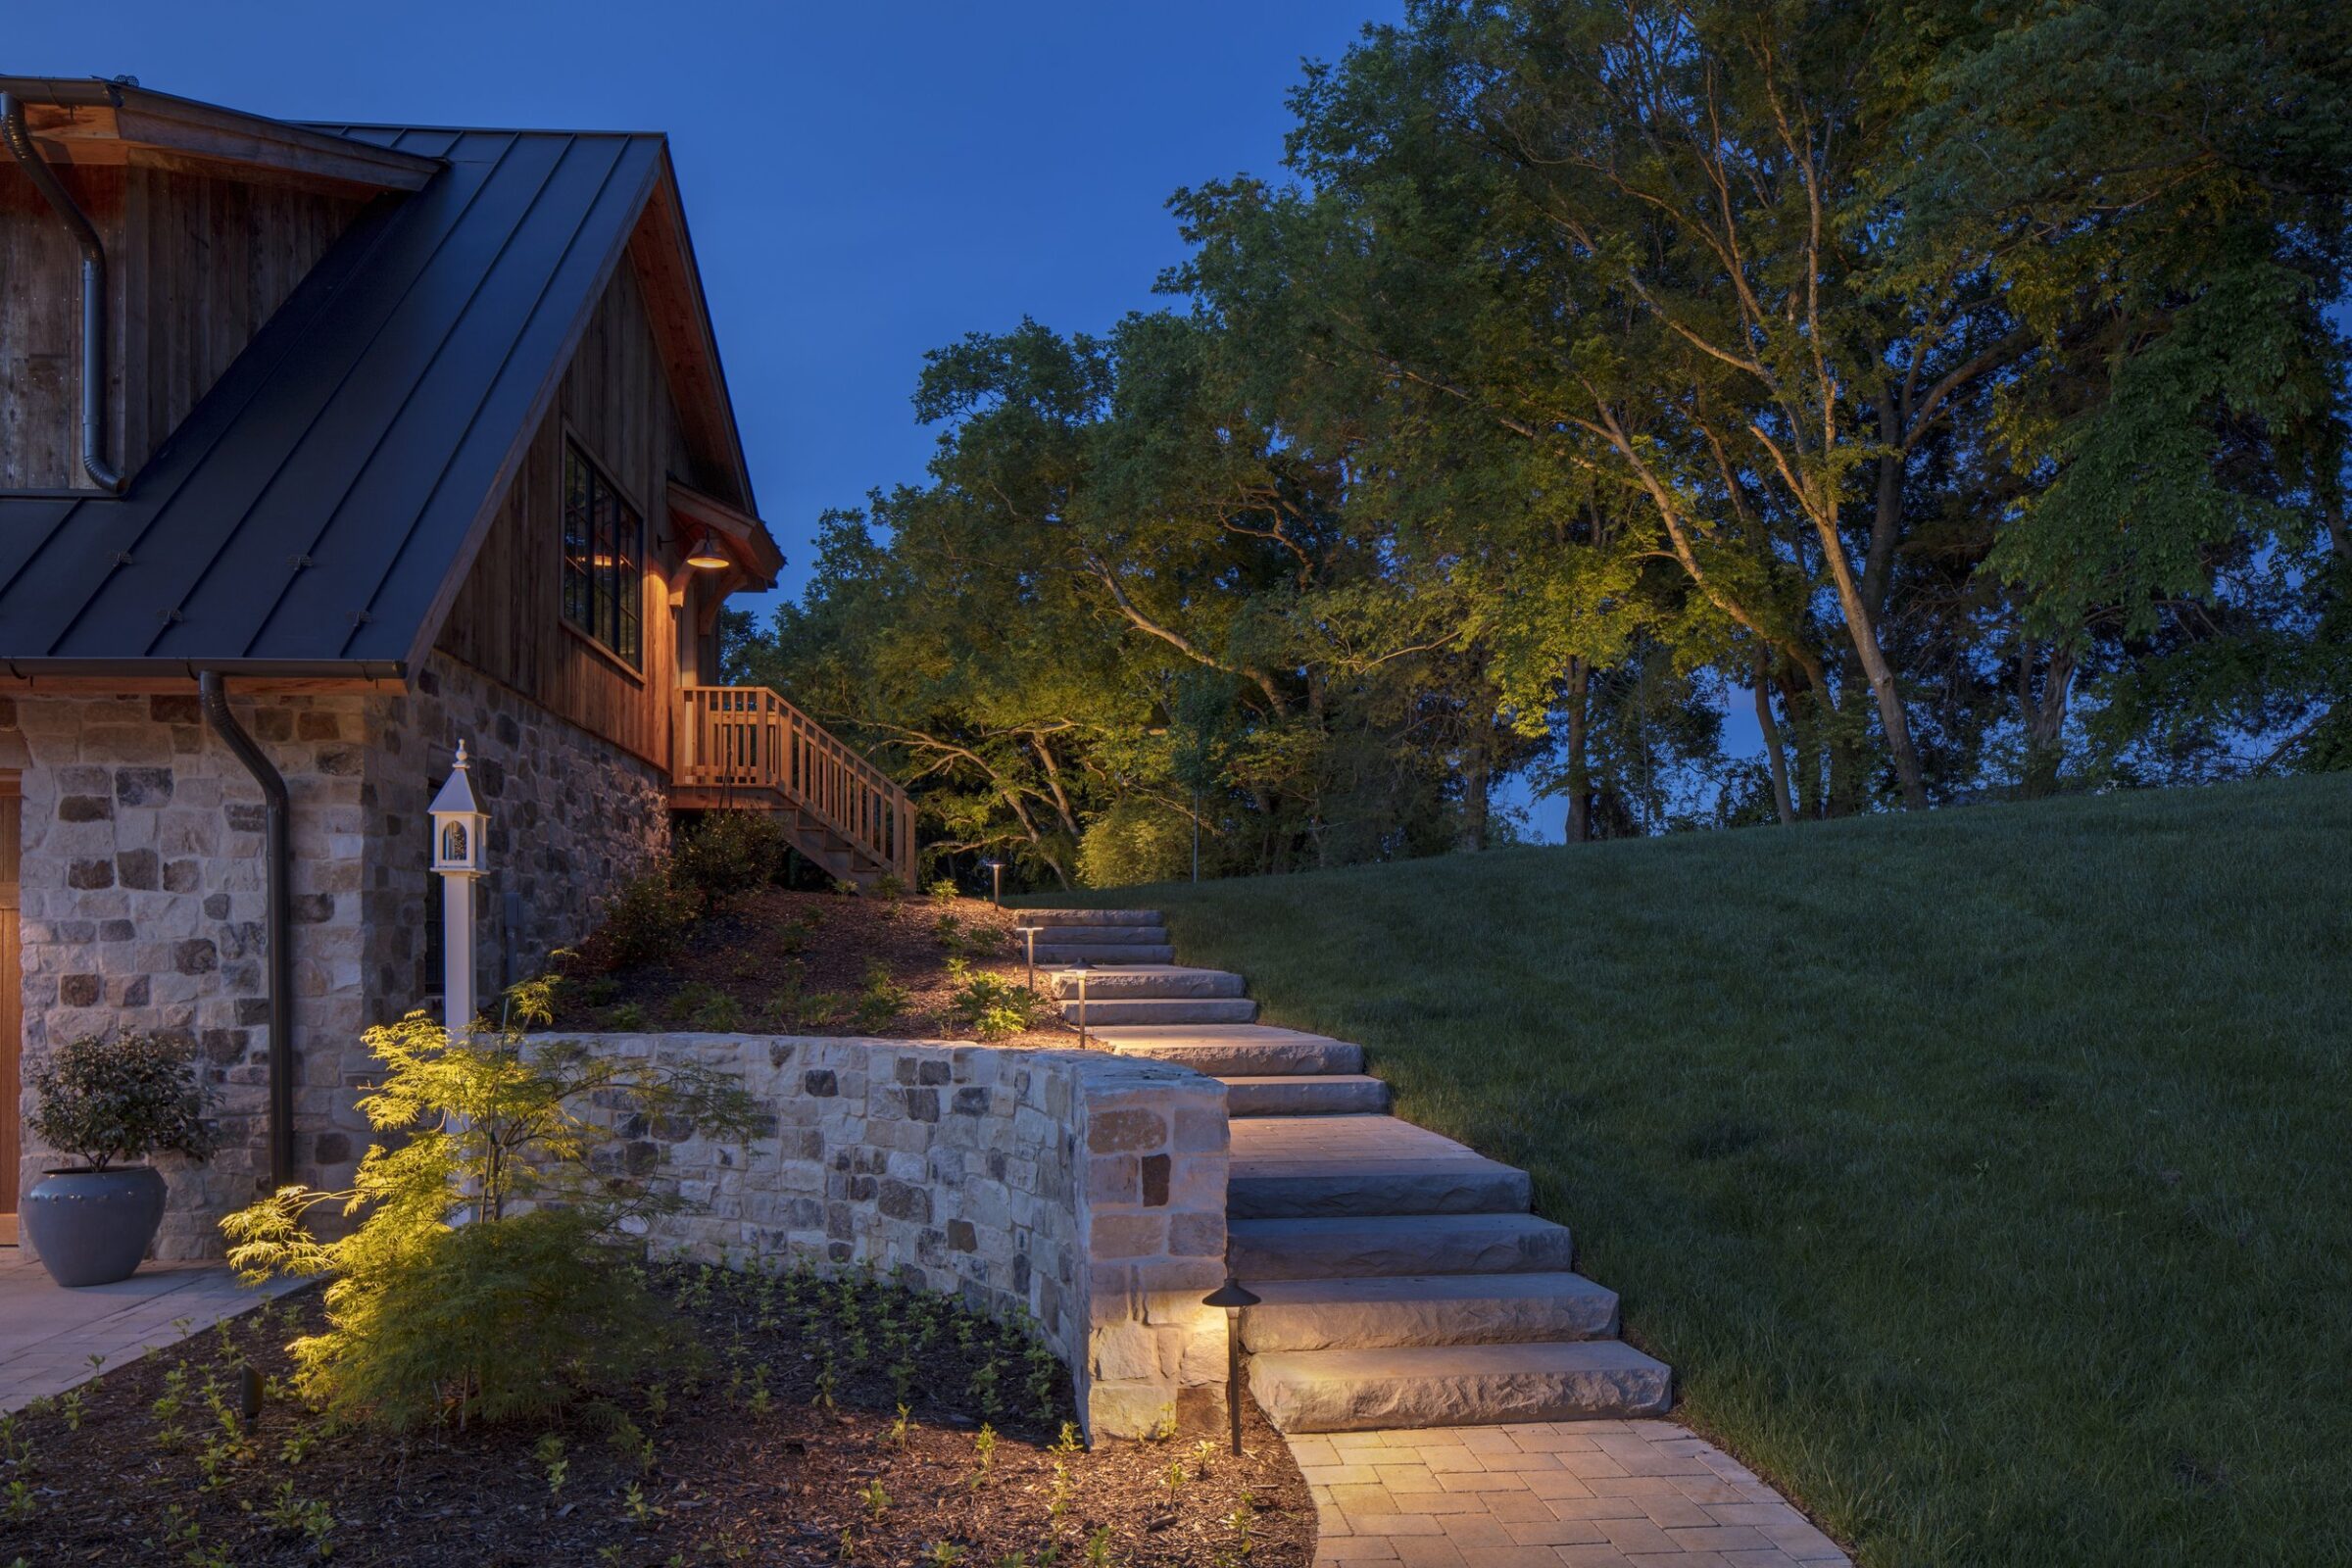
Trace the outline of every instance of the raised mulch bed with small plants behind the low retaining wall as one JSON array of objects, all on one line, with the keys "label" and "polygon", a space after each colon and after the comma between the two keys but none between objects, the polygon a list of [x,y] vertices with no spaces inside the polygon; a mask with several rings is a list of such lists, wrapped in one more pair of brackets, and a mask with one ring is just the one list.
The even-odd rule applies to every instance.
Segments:
[{"label": "raised mulch bed with small plants behind the low retaining wall", "polygon": [[[616,964],[590,936],[564,969],[555,1030],[978,1039],[955,994],[981,971],[1028,983],[1016,924],[985,898],[760,889],[659,964]],[[1042,976],[1037,987],[1049,990]],[[1044,1018],[993,1044],[1065,1048],[1077,1034]]]}]

